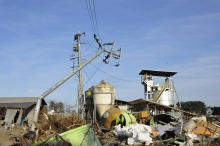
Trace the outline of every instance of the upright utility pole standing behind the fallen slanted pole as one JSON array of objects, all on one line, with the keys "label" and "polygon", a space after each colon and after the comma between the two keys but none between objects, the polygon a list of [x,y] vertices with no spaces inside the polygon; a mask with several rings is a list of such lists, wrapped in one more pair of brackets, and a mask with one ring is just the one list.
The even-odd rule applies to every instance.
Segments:
[{"label": "upright utility pole standing behind the fallen slanted pole", "polygon": [[[85,32],[84,33],[77,33],[74,36],[74,41],[77,42],[77,44],[73,47],[73,51],[78,53],[78,65],[77,66],[81,66],[82,65],[82,56],[81,56],[81,42],[80,42],[80,37],[81,35],[85,36]],[[73,59],[76,59],[73,58]],[[72,58],[71,58],[72,59]],[[83,111],[84,111],[84,88],[83,88],[83,75],[82,75],[82,69],[79,70],[78,72],[78,91],[77,91],[77,103],[78,103],[78,115],[80,115],[81,117],[83,117]]]}]

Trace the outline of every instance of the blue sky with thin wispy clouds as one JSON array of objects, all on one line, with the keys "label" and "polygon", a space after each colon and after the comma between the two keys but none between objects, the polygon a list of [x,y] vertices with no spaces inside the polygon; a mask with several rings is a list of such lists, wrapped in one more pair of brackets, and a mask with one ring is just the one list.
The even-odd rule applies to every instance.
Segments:
[{"label": "blue sky with thin wispy clouds", "polygon": [[[102,42],[123,52],[119,67],[102,54],[84,68],[85,90],[104,79],[117,99],[144,98],[139,72],[169,70],[178,72],[172,79],[181,101],[220,106],[219,0],[94,2]],[[40,96],[69,74],[79,31],[86,32],[83,58],[97,51],[85,0],[0,0],[0,22],[1,97]],[[47,99],[75,104],[76,87],[74,76]]]}]

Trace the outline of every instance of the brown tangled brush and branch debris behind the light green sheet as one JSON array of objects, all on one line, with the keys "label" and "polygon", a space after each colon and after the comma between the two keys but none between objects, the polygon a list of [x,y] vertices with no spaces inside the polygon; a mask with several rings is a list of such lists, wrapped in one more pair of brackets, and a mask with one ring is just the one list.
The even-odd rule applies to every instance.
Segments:
[{"label": "brown tangled brush and branch debris behind the light green sheet", "polygon": [[10,129],[10,131],[16,130],[16,133],[18,133],[17,135],[12,135],[17,139],[17,141],[14,141],[14,144],[20,144],[23,146],[41,141],[47,141],[53,136],[57,136],[60,133],[85,124],[85,120],[78,116],[77,113],[64,116],[63,114],[47,115],[46,113],[42,112],[39,115],[38,123],[36,123],[35,132],[30,131],[30,128],[27,124],[25,124],[23,128],[16,128],[19,126],[15,126],[13,129]]}]

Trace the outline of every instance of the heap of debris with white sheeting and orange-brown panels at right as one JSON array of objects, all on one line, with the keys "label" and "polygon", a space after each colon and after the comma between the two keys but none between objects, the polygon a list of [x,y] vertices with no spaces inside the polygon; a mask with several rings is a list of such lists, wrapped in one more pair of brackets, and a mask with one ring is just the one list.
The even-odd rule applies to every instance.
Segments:
[{"label": "heap of debris with white sheeting and orange-brown panels at right", "polygon": [[[115,136],[113,138],[113,136]],[[205,116],[183,119],[178,113],[153,116],[148,125],[116,125],[99,137],[111,145],[220,145],[220,126],[207,122]],[[106,144],[108,142],[108,144]]]}]

